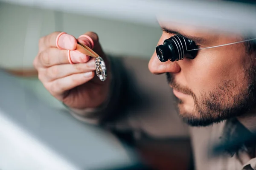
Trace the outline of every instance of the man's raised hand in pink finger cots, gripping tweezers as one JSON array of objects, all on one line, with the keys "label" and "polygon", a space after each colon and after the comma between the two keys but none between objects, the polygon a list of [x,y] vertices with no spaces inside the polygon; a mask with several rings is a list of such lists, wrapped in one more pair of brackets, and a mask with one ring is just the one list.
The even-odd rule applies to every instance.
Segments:
[{"label": "man's raised hand in pink finger cots, gripping tweezers", "polygon": [[[89,57],[77,51],[76,43],[81,42],[90,47],[90,40],[79,37],[77,40],[70,34],[54,32],[39,40],[39,51],[33,65],[38,71],[38,79],[44,87],[56,99],[63,102],[70,108],[96,108],[108,97],[111,75],[102,82],[95,74],[95,58]],[[109,63],[102,51],[97,34],[87,32],[94,42],[93,51],[101,56],[110,72]],[[70,64],[67,57],[67,50],[70,51],[70,58],[74,64]]]}]

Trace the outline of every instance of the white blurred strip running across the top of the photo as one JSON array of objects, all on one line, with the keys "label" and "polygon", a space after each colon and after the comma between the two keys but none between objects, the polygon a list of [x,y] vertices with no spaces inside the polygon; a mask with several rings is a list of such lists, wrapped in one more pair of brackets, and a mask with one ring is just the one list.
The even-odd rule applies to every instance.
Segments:
[{"label": "white blurred strip running across the top of the photo", "polygon": [[156,16],[172,22],[196,24],[226,31],[256,34],[256,7],[212,0],[0,0],[25,6],[37,6],[90,14],[158,26]]}]

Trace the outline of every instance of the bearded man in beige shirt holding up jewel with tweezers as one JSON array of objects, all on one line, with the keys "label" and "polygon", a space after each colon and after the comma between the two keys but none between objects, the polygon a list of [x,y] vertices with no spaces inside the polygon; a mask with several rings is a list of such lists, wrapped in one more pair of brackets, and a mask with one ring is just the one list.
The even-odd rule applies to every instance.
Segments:
[{"label": "bearded man in beige shirt holding up jewel with tweezers", "polygon": [[[248,39],[244,35],[191,26],[171,28],[164,23],[160,23],[160,26],[163,34],[157,45],[174,35],[192,40],[198,48]],[[136,88],[139,85],[135,84],[136,81],[127,71],[136,62],[127,66],[117,58],[107,57],[97,35],[93,32],[85,35],[76,39],[69,34],[54,32],[39,41],[34,66],[39,79],[52,96],[63,102],[73,116],[88,123],[117,131],[133,130],[135,136],[154,137],[169,136],[166,131],[173,131],[176,127],[176,131],[186,136],[186,127],[176,118],[172,121],[166,119],[166,122],[164,117],[168,115],[158,111],[159,107],[151,112],[143,110],[151,108],[154,103],[146,101],[147,97],[140,98],[150,94],[144,94],[143,87]],[[95,76],[95,59],[76,50],[77,41],[93,48],[105,60],[108,68],[106,81],[102,82]],[[70,64],[68,53],[73,64]],[[138,63],[143,67],[140,61]],[[236,139],[233,136],[242,138],[244,134],[253,134],[256,129],[256,45],[253,41],[198,50],[195,59],[185,57],[175,62],[161,62],[154,52],[148,68],[153,74],[166,74],[169,88],[173,88],[178,113],[191,126],[189,133],[196,169],[256,170],[254,143],[243,143],[236,150],[228,150],[229,156],[211,157],[211,153],[208,153],[209,147],[216,142],[230,142]],[[135,74],[139,75],[138,81],[141,83],[144,75],[140,72]],[[157,77],[154,79],[143,79],[145,87],[147,84],[157,84]],[[159,103],[172,105],[173,94],[171,92],[168,94],[170,98],[166,97]],[[170,106],[170,109],[170,114],[176,113],[175,107]],[[161,128],[160,125],[170,128]]]}]

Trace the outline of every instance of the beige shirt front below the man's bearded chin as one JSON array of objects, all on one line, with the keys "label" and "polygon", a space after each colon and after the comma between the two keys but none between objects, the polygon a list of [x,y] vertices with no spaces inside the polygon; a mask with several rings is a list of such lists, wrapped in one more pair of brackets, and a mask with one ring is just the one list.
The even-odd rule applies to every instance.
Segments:
[{"label": "beige shirt front below the man's bearded chin", "polygon": [[209,127],[190,128],[196,170],[244,170],[243,167],[247,164],[251,164],[254,168],[252,170],[256,170],[256,159],[250,160],[247,153],[235,154],[233,157],[212,157],[209,148],[220,140],[224,124],[225,122]]}]

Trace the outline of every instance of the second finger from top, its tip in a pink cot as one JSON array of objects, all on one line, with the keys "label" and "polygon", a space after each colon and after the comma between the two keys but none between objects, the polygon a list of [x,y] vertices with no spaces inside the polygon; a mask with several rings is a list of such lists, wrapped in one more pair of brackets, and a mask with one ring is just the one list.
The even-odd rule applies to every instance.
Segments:
[{"label": "second finger from top, its tip in a pink cot", "polygon": [[[68,60],[67,53],[67,50],[47,48],[38,55],[35,65],[36,67],[51,67],[53,65],[69,64],[70,62]],[[90,57],[77,50],[70,51],[70,58],[73,63],[87,62],[90,59]]]}]

